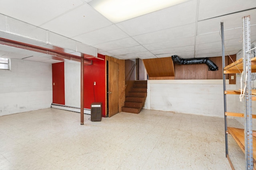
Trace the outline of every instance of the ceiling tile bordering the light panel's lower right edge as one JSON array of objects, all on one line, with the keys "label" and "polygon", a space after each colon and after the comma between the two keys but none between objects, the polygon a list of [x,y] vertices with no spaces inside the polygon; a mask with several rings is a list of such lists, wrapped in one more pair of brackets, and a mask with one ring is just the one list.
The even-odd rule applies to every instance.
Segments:
[{"label": "ceiling tile bordering the light panel's lower right edge", "polygon": [[196,0],[191,0],[116,25],[131,36],[186,25],[196,21],[196,4]]}]

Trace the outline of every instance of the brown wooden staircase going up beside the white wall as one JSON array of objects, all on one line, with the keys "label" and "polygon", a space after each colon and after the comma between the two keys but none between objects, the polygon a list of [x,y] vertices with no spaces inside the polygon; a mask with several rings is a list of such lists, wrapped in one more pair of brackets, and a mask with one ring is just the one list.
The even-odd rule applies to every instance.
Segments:
[{"label": "brown wooden staircase going up beside the white wall", "polygon": [[122,111],[128,113],[140,113],[147,97],[147,80],[136,80],[128,96],[125,97]]}]

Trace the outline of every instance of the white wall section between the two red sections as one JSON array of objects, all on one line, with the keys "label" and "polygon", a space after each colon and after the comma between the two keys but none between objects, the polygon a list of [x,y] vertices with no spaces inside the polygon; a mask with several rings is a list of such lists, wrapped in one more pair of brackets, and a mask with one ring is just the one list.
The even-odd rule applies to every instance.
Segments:
[{"label": "white wall section between the two red sections", "polygon": [[80,63],[64,63],[65,105],[80,108]]}]

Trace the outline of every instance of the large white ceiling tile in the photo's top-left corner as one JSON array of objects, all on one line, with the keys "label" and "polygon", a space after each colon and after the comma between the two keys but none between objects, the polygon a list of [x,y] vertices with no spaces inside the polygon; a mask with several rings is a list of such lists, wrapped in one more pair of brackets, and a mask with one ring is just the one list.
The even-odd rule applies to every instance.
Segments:
[{"label": "large white ceiling tile in the photo's top-left corner", "polygon": [[0,11],[6,16],[38,26],[81,4],[81,0],[1,0]]}]

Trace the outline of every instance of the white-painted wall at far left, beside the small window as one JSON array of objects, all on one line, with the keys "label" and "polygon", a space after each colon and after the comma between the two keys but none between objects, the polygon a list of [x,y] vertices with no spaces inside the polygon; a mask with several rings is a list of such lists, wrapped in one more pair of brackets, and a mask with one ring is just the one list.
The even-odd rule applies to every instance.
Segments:
[{"label": "white-painted wall at far left, beside the small window", "polygon": [[0,70],[0,116],[48,108],[52,103],[52,64],[11,59]]}]

